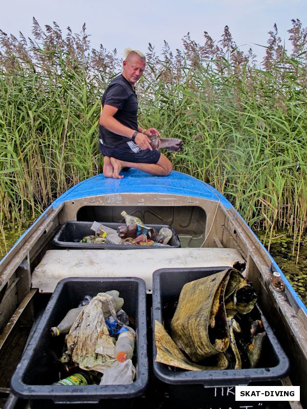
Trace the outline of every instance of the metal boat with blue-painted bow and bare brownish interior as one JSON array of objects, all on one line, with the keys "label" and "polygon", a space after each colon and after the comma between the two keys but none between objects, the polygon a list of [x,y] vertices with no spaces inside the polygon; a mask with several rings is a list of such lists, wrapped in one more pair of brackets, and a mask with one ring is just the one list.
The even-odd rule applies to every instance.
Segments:
[{"label": "metal boat with blue-painted bow and bare brownish interior", "polygon": [[[81,248],[55,243],[67,222],[123,223],[122,211],[145,224],[172,226],[180,246]],[[123,179],[97,175],[69,189],[0,261],[0,406],[29,407],[27,399],[12,393],[10,379],[61,280],[141,278],[150,315],[154,271],[171,268],[176,281],[177,268],[220,266],[242,271],[256,289],[257,303],[290,361],[288,376],[277,384],[299,385],[301,402],[289,401],[287,407],[307,407],[307,309],[266,248],[231,203],[210,185],[176,171],[157,177],[132,169]],[[280,274],[281,291],[272,285],[274,272]],[[148,322],[150,331],[150,316]]]}]

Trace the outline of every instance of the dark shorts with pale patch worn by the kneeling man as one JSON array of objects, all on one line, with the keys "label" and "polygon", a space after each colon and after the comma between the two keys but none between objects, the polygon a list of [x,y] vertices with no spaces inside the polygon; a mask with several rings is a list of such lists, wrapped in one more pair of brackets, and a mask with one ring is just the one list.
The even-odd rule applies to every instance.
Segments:
[{"label": "dark shorts with pale patch worn by the kneeling man", "polygon": [[99,150],[103,156],[115,157],[124,162],[133,163],[151,163],[156,164],[161,152],[158,149],[144,149],[142,150],[133,141],[125,142],[116,148],[109,148],[99,141]]}]

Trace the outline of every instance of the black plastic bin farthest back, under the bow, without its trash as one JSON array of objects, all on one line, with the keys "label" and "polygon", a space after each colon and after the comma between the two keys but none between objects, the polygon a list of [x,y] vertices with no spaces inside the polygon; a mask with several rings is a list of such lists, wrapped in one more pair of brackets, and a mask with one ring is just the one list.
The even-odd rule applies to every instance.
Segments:
[{"label": "black plastic bin farthest back, under the bow, without its trash", "polygon": [[[116,230],[118,226],[123,225],[123,223],[104,223],[105,226]],[[132,244],[96,244],[96,243],[80,243],[85,236],[94,235],[95,232],[91,230],[93,222],[92,221],[67,221],[65,222],[56,233],[53,239],[53,243],[60,247],[65,248],[104,248],[104,249],[140,249],[140,248],[161,248],[161,246],[137,246]],[[180,247],[180,241],[177,233],[174,231],[172,226],[166,224],[146,224],[147,227],[152,227],[159,230],[163,227],[167,227],[172,231],[172,237],[165,248],[170,247]]]}]

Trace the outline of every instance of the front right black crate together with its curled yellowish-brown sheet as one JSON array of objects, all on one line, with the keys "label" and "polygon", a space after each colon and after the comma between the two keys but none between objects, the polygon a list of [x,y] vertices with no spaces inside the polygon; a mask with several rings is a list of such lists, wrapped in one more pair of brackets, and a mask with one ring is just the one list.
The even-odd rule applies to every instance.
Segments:
[{"label": "front right black crate together with its curled yellowish-brown sheet", "polygon": [[[288,357],[257,306],[254,290],[240,284],[234,292],[236,298],[231,299],[233,289],[230,291],[227,286],[231,287],[233,280],[229,277],[239,280],[243,277],[235,272],[229,267],[164,268],[153,272],[153,372],[167,386],[172,404],[177,407],[229,409],[245,407],[244,404],[259,407],[262,402],[236,402],[235,386],[276,385],[288,374]],[[221,298],[223,291],[225,299]],[[239,300],[242,294],[246,297],[245,291],[254,296],[254,305],[247,303],[248,310]],[[224,307],[227,316],[223,314]],[[242,334],[235,337],[236,349],[234,321],[228,315],[241,327]],[[258,332],[253,325],[259,326]],[[254,332],[251,330],[254,338],[243,337],[245,328],[254,328]],[[227,337],[226,350],[223,343]],[[256,351],[259,345],[260,355],[248,357],[247,352]],[[247,363],[249,359],[254,363]]]}]

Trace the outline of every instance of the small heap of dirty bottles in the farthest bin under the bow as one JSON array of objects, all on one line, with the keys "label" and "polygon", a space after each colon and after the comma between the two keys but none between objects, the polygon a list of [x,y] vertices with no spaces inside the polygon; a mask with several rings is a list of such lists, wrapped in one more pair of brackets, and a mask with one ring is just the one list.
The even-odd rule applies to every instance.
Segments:
[{"label": "small heap of dirty bottles in the farthest bin under the bow", "polygon": [[168,242],[172,238],[170,229],[163,227],[158,233],[154,228],[145,226],[138,217],[128,215],[125,211],[121,215],[125,218],[125,225],[119,225],[114,230],[94,221],[91,230],[95,235],[83,237],[80,243],[169,246]]}]

